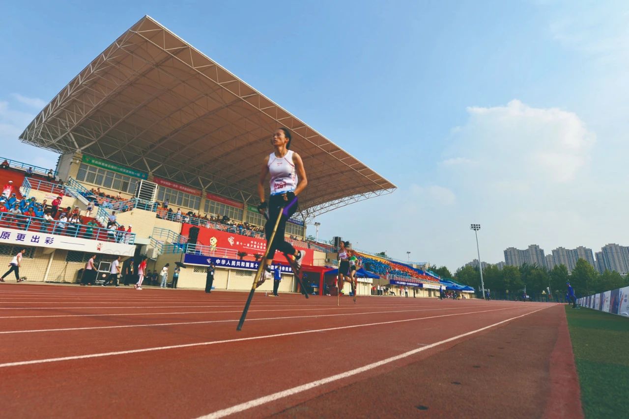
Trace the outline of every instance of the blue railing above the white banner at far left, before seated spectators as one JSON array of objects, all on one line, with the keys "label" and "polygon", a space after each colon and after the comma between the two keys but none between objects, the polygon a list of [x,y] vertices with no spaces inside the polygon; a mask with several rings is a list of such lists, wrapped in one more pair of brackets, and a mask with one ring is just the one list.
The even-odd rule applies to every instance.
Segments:
[{"label": "blue railing above the white banner at far left, before seated spectators", "polygon": [[[99,241],[118,242],[125,244],[135,243],[135,233],[113,231],[86,224],[74,224],[58,220],[47,221],[40,217],[29,215],[11,214],[0,212],[0,228],[17,229],[21,231],[40,232],[43,234],[56,234],[58,236],[78,237]],[[25,245],[36,246],[38,241],[32,241]]]}]

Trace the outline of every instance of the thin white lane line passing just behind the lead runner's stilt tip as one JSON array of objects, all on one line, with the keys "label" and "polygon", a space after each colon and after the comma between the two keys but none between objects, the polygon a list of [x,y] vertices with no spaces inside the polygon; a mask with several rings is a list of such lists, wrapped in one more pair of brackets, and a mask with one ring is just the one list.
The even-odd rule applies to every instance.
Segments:
[{"label": "thin white lane line passing just behind the lead runner's stilt tip", "polygon": [[[304,309],[306,310],[306,309]],[[452,308],[440,308],[439,310],[454,310]],[[269,312],[269,311],[298,311],[298,310],[249,310],[250,312]],[[335,314],[313,314],[309,316],[285,316],[285,317],[266,317],[266,318],[252,318],[250,320],[281,320],[285,318],[311,318],[311,317],[335,317],[335,316],[355,316],[362,314],[387,314],[387,313],[410,313],[410,312],[434,312],[430,308],[420,308],[418,310],[389,310],[389,311],[377,311],[377,312],[362,312],[362,313],[335,313]],[[240,310],[231,310],[229,312],[214,312],[214,313],[238,313]],[[173,314],[173,313],[169,313]],[[173,323],[155,323],[155,324],[130,324],[130,325],[115,325],[115,326],[88,326],[88,327],[66,327],[58,329],[33,329],[33,330],[4,330],[0,332],[0,335],[19,334],[19,333],[36,333],[36,332],[64,332],[72,330],[95,330],[95,329],[125,329],[127,327],[153,327],[153,326],[172,326],[172,325],[189,325],[189,324],[206,324],[206,323],[228,323],[237,322],[238,318],[231,318],[227,320],[199,320],[197,322],[173,322]]]}]

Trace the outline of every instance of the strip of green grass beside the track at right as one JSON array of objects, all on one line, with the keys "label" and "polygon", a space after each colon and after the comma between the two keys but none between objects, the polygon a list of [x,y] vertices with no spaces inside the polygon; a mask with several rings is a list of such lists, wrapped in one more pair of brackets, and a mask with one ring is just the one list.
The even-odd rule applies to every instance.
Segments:
[{"label": "strip of green grass beside the track at right", "polygon": [[565,306],[587,419],[629,417],[629,318]]}]

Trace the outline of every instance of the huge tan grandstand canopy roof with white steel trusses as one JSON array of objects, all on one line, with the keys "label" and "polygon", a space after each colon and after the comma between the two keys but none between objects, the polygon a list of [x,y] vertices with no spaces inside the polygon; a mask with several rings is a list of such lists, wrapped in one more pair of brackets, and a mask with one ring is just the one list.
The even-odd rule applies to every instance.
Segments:
[{"label": "huge tan grandstand canopy roof with white steel trusses", "polygon": [[306,166],[305,219],[396,188],[148,16],[72,79],[20,139],[255,203],[262,159],[281,126]]}]

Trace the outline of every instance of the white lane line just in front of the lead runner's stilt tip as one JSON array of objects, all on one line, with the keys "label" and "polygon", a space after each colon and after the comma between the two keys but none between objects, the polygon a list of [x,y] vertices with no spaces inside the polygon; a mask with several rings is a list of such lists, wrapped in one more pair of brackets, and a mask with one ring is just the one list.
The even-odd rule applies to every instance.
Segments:
[{"label": "white lane line just in front of the lead runner's stilt tip", "polygon": [[[513,307],[513,308],[515,308],[515,307]],[[377,326],[377,325],[383,325],[383,324],[413,322],[415,320],[428,320],[430,318],[440,318],[440,317],[462,316],[462,315],[468,315],[468,314],[497,312],[497,311],[501,311],[501,310],[509,310],[509,308],[496,308],[494,310],[481,310],[479,312],[443,314],[443,315],[430,316],[430,317],[404,318],[403,320],[391,320],[391,321],[388,321],[388,322],[377,322],[377,323],[355,324],[355,325],[338,326],[338,327],[328,327],[326,329],[317,329],[317,330],[301,330],[299,332],[286,332],[286,333],[277,333],[277,334],[272,334],[272,335],[241,337],[239,339],[210,340],[209,342],[197,342],[197,343],[194,343],[194,344],[157,346],[157,347],[148,347],[148,348],[143,348],[143,349],[129,349],[127,351],[102,352],[100,354],[74,355],[74,356],[64,356],[64,357],[58,357],[58,358],[33,359],[31,361],[5,362],[4,364],[0,364],[0,368],[17,367],[17,366],[33,365],[33,364],[46,364],[48,362],[74,361],[75,359],[99,358],[99,357],[104,357],[104,356],[138,354],[140,352],[165,351],[167,349],[181,349],[181,348],[186,348],[186,347],[197,347],[197,346],[209,346],[209,345],[217,345],[217,344],[228,344],[228,343],[233,343],[233,342],[246,342],[248,340],[270,339],[270,338],[273,338],[273,337],[303,335],[303,334],[309,334],[309,333],[315,333],[315,332],[330,332],[331,330],[355,329],[355,328],[358,328],[358,327],[367,327],[367,326]]]}]

